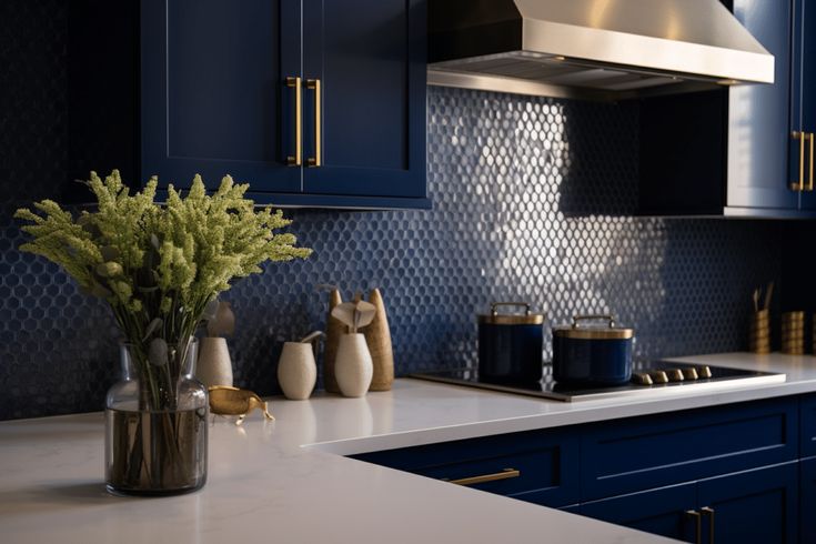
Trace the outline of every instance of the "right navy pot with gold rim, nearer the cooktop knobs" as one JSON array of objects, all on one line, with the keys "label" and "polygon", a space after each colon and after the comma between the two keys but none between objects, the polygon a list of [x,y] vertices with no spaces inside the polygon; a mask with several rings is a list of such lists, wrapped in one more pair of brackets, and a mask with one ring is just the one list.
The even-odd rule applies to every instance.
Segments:
[{"label": "right navy pot with gold rim, nearer the cooktop knobs", "polygon": [[[605,320],[604,326],[583,325]],[[553,328],[553,379],[575,385],[617,385],[632,377],[634,330],[615,326],[612,315],[576,315]]]}]

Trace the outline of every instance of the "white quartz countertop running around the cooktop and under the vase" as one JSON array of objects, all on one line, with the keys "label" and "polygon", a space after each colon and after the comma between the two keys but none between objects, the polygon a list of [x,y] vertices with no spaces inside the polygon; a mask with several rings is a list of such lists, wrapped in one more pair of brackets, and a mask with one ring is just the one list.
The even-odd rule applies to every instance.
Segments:
[{"label": "white quartz countertop running around the cooktop and under the vase", "polygon": [[342,455],[816,391],[813,356],[679,361],[784,372],[787,381],[661,400],[561,403],[409,379],[363,399],[272,399],[274,422],[259,413],[242,427],[215,419],[206,485],[162,498],[104,491],[100,413],[3,422],[0,541],[673,542]]}]

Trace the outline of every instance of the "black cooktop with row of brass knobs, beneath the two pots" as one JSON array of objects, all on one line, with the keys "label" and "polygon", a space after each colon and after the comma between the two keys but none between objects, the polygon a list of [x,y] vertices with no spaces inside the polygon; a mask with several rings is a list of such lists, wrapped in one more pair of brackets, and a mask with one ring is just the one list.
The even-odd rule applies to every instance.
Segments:
[{"label": "black cooktop with row of brass knobs, beneath the two pots", "polygon": [[[632,381],[613,386],[576,386],[556,383],[553,380],[552,364],[544,365],[544,377],[541,381],[530,383],[486,382],[480,380],[477,369],[434,371],[412,374],[411,377],[566,402],[612,399],[617,396],[659,397],[692,392],[782,383],[786,377],[785,374],[774,372],[748,371],[694,363],[675,363],[671,361],[635,362],[633,363],[632,371]],[[661,371],[665,374],[661,374]],[[644,379],[644,374],[654,376],[654,380]],[[682,380],[679,377],[681,375],[683,376]],[[649,381],[652,383],[647,383]],[[662,381],[665,383],[661,383]]]}]

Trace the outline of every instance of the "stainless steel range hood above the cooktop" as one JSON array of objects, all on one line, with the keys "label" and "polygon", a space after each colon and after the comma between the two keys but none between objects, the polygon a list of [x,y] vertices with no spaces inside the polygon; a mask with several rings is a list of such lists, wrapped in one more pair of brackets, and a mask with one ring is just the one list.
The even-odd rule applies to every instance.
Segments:
[{"label": "stainless steel range hood above the cooktop", "polygon": [[429,83],[617,100],[773,83],[718,0],[431,0]]}]

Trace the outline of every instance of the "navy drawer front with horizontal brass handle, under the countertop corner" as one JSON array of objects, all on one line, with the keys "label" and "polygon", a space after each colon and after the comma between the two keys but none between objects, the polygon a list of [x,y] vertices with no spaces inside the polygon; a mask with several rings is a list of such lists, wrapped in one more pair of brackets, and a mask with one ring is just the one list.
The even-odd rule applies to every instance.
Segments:
[{"label": "navy drawer front with horizontal brass handle, under the countertop corner", "polygon": [[[565,432],[503,434],[353,457],[437,480],[510,475],[469,486],[547,506],[578,502],[578,441]],[[517,474],[505,473],[508,469]]]}]

